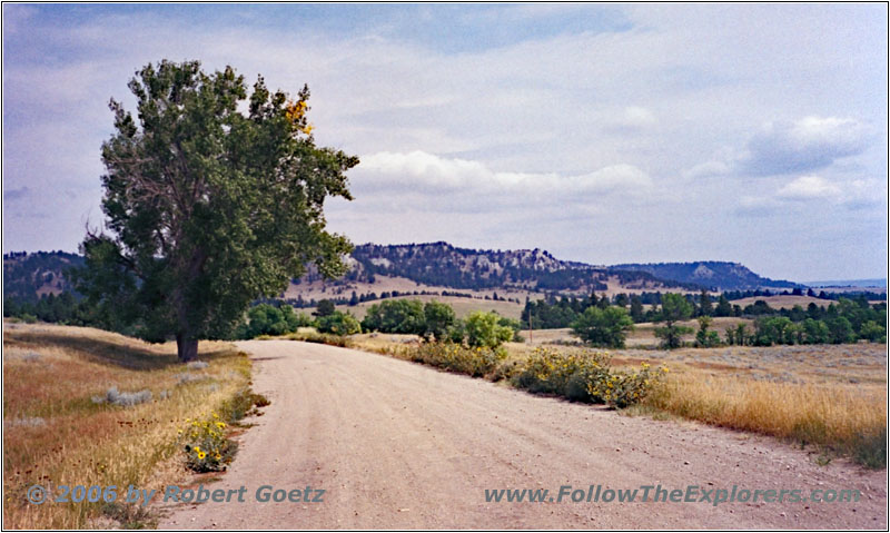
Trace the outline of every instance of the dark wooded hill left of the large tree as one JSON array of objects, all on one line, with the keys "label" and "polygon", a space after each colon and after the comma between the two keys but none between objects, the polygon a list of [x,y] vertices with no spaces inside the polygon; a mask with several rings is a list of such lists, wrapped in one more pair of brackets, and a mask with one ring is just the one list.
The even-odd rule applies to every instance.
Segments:
[{"label": "dark wooded hill left of the large tree", "polygon": [[3,254],[3,297],[37,300],[73,287],[66,278],[71,267],[83,265],[83,257],[66,251],[13,251]]}]

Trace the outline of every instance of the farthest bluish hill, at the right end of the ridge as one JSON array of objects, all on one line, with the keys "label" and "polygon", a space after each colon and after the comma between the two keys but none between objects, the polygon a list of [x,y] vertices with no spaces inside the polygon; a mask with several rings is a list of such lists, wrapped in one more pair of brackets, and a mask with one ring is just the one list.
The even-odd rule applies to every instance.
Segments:
[{"label": "farthest bluish hill, at the right end of the ridge", "polygon": [[759,276],[744,265],[728,261],[649,263],[614,265],[610,269],[645,272],[661,279],[695,284],[714,290],[805,288],[804,285]]}]

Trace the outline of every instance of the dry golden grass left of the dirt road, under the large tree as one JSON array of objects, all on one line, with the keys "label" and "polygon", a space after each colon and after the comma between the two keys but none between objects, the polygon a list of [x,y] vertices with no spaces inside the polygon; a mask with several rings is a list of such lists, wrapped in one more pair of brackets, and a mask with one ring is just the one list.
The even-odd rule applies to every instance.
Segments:
[{"label": "dry golden grass left of the dirt road, under the large tree", "polygon": [[[32,505],[33,484],[161,488],[185,471],[177,432],[249,383],[250,363],[227,343],[201,343],[207,368],[188,369],[172,344],[149,345],[91,328],[3,327],[3,522],[10,529],[83,529],[100,503]],[[188,383],[182,374],[206,375]],[[109,387],[149,389],[150,402],[96,404]],[[168,396],[161,397],[166,392]]]}]

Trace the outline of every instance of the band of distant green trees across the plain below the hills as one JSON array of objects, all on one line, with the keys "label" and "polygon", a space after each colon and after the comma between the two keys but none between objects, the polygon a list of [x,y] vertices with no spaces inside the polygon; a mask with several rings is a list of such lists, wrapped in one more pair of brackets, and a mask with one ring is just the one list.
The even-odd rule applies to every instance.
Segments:
[{"label": "band of distant green trees across the plain below the hills", "polygon": [[[398,294],[398,296],[404,296]],[[645,304],[644,304],[645,302]],[[260,302],[253,306],[246,318],[235,329],[235,338],[253,338],[257,335],[280,335],[301,326],[315,326],[327,333],[352,334],[359,330],[385,333],[412,333],[441,338],[464,338],[465,324],[453,316],[453,309],[441,303],[422,304],[412,299],[385,299],[374,304],[360,323],[349,314],[335,309],[332,299],[317,304],[310,316],[296,313],[280,300]],[[656,329],[666,347],[678,347],[683,335],[692,333],[676,324],[692,317],[749,317],[755,318],[751,327],[739,324],[723,332],[723,337],[711,329],[710,320],[700,319],[696,345],[771,345],[771,344],[823,344],[856,340],[886,342],[887,304],[869,304],[866,295],[856,298],[828,300],[828,306],[810,303],[807,308],[775,309],[765,300],[742,308],[732,305],[726,295],[713,298],[702,293],[698,296],[647,293],[643,295],[619,294],[612,298],[592,293],[586,298],[551,296],[526,302],[520,322],[497,318],[497,325],[514,332],[572,327],[585,342],[599,346],[622,346],[626,333],[635,323],[654,322],[665,325]],[[644,305],[647,306],[644,310]],[[117,317],[88,300],[76,298],[71,293],[48,295],[37,302],[4,298],[3,316],[19,317],[26,322],[42,320],[78,326],[95,326],[128,333],[127,326]],[[434,326],[431,317],[444,318],[444,326]],[[516,333],[517,334],[517,333]]]}]

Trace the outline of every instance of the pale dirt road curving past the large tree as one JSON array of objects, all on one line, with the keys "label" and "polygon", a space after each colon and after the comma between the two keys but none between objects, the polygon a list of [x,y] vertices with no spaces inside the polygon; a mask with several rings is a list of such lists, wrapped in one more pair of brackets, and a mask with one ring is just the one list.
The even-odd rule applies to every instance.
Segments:
[{"label": "pale dirt road curving past the large tree", "polygon": [[[357,351],[241,343],[273,404],[222,480],[245,503],[166,507],[165,529],[886,529],[886,472],[819,466],[773,440],[621,416]],[[257,502],[263,485],[320,503]],[[485,490],[582,488],[585,501],[486,502]],[[848,490],[858,503],[586,502],[590,485]],[[654,490],[653,490],[654,491]],[[604,493],[603,493],[604,494]],[[741,492],[736,492],[741,494]],[[652,494],[650,495],[650,500]]]}]

